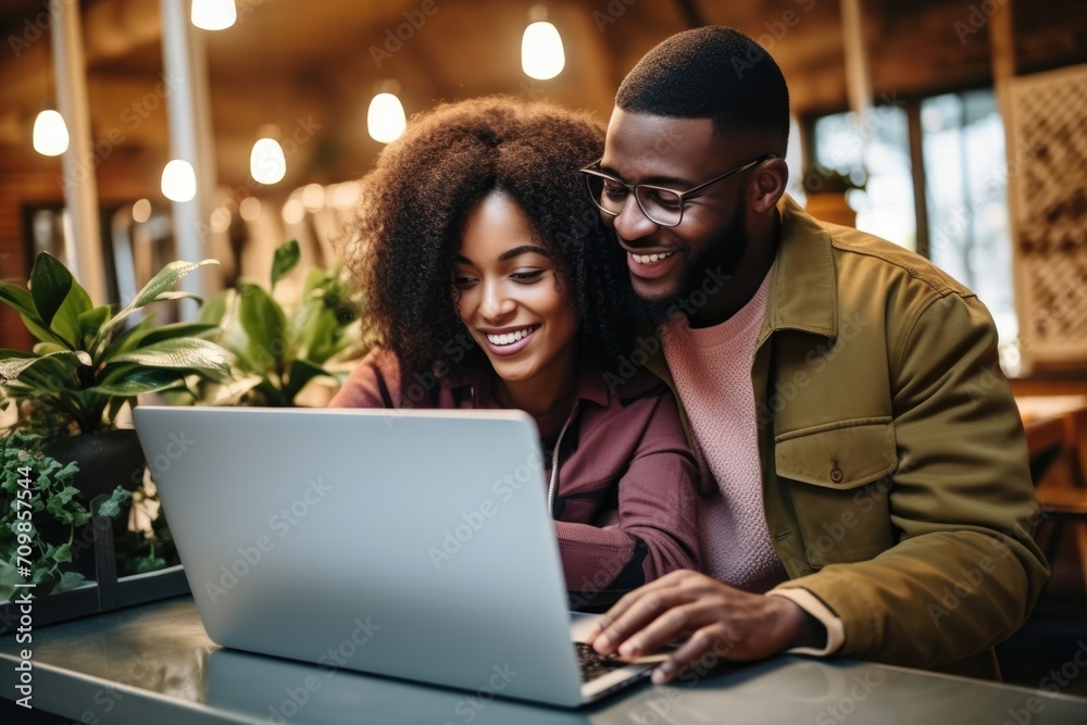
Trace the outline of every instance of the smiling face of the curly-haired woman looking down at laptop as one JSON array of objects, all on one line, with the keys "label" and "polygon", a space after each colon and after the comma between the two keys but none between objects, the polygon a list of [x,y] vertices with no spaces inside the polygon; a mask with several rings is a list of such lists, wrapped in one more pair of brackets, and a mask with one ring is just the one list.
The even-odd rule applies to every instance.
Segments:
[{"label": "smiling face of the curly-haired woman looking down at laptop", "polygon": [[579,318],[570,287],[524,211],[501,191],[488,193],[467,216],[453,259],[453,299],[508,383],[574,359]]}]

